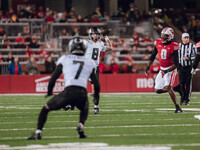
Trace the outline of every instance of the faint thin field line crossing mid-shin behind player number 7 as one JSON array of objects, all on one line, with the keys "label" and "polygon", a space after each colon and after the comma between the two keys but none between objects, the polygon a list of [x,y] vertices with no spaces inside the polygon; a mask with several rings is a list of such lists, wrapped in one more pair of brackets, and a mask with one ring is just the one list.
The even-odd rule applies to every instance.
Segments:
[{"label": "faint thin field line crossing mid-shin behind player number 7", "polygon": [[[133,122],[134,121],[141,121],[141,120],[144,120],[144,119],[137,119],[137,118],[132,118],[131,119]],[[145,118],[145,120],[151,120],[151,118]],[[170,121],[170,120],[183,120],[182,118],[169,118],[169,119],[153,119],[153,121]],[[193,120],[193,118],[187,118],[187,120]],[[103,120],[104,122],[118,122],[119,119],[116,119],[116,120]],[[77,120],[72,120],[72,121],[48,121],[48,123],[72,123],[72,122],[78,122]],[[102,122],[102,120],[89,120],[88,122]],[[0,122],[0,125],[1,124],[35,124],[37,123],[36,121],[16,121],[16,122]]]}]

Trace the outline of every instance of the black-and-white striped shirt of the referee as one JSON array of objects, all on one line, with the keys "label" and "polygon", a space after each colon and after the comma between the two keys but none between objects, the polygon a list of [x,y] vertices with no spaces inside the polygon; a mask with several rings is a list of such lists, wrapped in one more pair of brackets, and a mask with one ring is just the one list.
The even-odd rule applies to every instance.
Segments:
[{"label": "black-and-white striped shirt of the referee", "polygon": [[[187,67],[192,65],[192,62],[195,59],[197,49],[195,44],[188,43],[188,44],[183,44],[179,43],[180,45],[180,50],[178,51],[178,58],[179,58],[179,64],[182,67]],[[188,57],[190,60],[183,60],[183,56]]]}]

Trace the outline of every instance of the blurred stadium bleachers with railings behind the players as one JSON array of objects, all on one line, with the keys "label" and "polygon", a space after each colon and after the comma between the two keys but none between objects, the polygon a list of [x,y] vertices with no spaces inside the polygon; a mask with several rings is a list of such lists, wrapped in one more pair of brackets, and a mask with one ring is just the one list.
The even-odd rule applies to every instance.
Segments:
[{"label": "blurred stadium bleachers with railings behind the players", "polygon": [[[112,16],[106,17],[106,15],[103,16],[102,14],[98,16],[99,13],[96,12],[85,18],[77,14],[75,10],[71,10],[69,13],[63,11],[60,13],[61,15],[58,15],[53,10],[40,10],[37,12],[34,12],[34,10],[24,10],[24,12],[20,12],[17,15],[18,18],[15,22],[11,21],[14,14],[12,9],[6,15],[0,13],[0,53],[2,54],[0,74],[8,74],[6,67],[8,67],[10,62],[7,62],[6,59],[9,52],[13,53],[13,57],[19,57],[22,71],[23,73],[27,73],[25,67],[29,59],[27,51],[32,38],[36,39],[39,46],[45,46],[49,42],[52,47],[48,48],[46,46],[46,50],[52,56],[53,60],[56,61],[60,55],[68,52],[67,45],[73,36],[88,38],[87,32],[92,26],[101,28],[102,34],[108,35],[111,39],[113,51],[115,51],[115,56],[119,60],[117,61],[119,73],[125,72],[124,70],[128,61],[124,61],[124,59],[127,52],[130,53],[132,64],[137,71],[144,72],[151,53],[148,52],[148,47],[153,46],[153,40],[159,37],[158,33],[166,24],[170,26],[173,26],[173,24],[170,24],[168,21],[170,10],[153,10],[151,14],[144,13],[141,15],[138,9],[131,12],[132,7],[135,8],[134,5],[130,5],[130,10],[127,10],[126,13],[119,8]],[[38,15],[39,12],[41,17]],[[178,33],[175,35],[179,36],[182,32],[178,28],[174,28],[175,32]],[[19,33],[22,34],[22,39],[26,39],[22,42],[25,48],[20,48],[21,45],[19,48],[16,48],[19,42],[15,42],[15,40]],[[39,48],[31,48],[31,53],[35,55],[37,61],[40,57],[38,55],[39,51]],[[30,53],[28,52],[28,54]],[[105,61],[107,55],[111,54],[102,55],[102,63],[109,70],[109,64],[106,64]],[[42,65],[44,63],[37,63],[40,65],[38,67],[39,72],[43,72],[44,66]]]}]

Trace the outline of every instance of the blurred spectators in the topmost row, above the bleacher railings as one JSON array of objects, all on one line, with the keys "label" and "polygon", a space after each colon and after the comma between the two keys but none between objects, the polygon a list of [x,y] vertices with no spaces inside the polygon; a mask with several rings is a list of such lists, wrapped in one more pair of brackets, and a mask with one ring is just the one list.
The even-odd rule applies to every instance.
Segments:
[{"label": "blurred spectators in the topmost row, above the bleacher railings", "polygon": [[108,15],[108,12],[102,11],[100,7],[96,7],[92,14],[83,17],[81,14],[77,14],[76,10],[72,7],[70,11],[57,12],[49,8],[44,9],[39,6],[36,10],[31,7],[22,8],[18,12],[15,12],[13,8],[10,8],[5,14],[0,10],[0,20],[8,19],[8,22],[19,22],[19,18],[41,18],[44,23],[67,23],[67,22],[89,22],[89,23],[101,23],[110,19],[121,19],[124,22],[139,22],[140,20],[150,17],[146,12],[141,12],[135,7],[134,3],[129,4],[128,10],[123,10],[122,7],[114,12],[112,15]]}]

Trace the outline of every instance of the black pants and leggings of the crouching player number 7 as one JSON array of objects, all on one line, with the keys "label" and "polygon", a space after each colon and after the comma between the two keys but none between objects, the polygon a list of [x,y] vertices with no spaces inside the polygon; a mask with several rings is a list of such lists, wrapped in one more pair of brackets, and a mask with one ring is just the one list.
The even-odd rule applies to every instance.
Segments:
[{"label": "black pants and leggings of the crouching player number 7", "polygon": [[59,110],[66,105],[76,106],[80,110],[80,122],[85,123],[88,116],[89,102],[87,97],[87,91],[83,87],[69,86],[64,89],[58,95],[55,95],[47,102],[49,110],[45,107],[42,108],[38,117],[37,129],[42,130],[49,111]]}]

